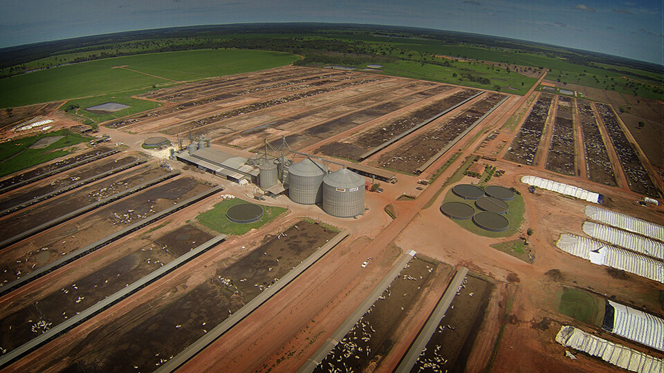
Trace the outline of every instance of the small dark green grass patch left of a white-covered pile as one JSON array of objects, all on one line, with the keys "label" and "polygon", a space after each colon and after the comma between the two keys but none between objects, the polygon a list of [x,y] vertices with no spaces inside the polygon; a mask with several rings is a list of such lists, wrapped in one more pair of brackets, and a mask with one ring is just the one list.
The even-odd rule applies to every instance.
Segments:
[{"label": "small dark green grass patch left of a white-covered pile", "polygon": [[605,300],[571,287],[562,289],[558,312],[573,317],[582,323],[602,327],[605,314]]}]

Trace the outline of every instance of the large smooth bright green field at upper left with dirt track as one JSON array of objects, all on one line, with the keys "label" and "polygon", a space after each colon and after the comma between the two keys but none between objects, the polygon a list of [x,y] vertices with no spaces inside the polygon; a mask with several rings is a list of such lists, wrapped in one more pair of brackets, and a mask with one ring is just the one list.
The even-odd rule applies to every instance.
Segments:
[{"label": "large smooth bright green field at upper left with dirt track", "polygon": [[[172,80],[195,80],[275,68],[297,59],[299,57],[288,53],[264,50],[190,50],[100,59],[1,79],[0,108],[117,95],[156,84],[176,84]],[[140,73],[113,68],[124,65]]]}]

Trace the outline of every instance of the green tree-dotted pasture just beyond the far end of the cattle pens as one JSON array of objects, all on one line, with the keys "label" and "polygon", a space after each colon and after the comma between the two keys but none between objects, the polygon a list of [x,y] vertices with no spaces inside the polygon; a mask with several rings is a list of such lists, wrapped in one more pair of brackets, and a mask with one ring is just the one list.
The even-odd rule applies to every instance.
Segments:
[{"label": "green tree-dotted pasture just beyond the far end of the cattle pens", "polygon": [[[497,85],[501,87],[500,90],[502,92],[515,93],[517,95],[524,95],[537,82],[537,79],[526,77],[519,73],[508,73],[504,68],[491,68],[485,64],[463,62],[454,62],[452,67],[445,67],[434,64],[422,65],[415,61],[397,61],[396,63],[385,64],[383,73],[398,77],[424,79],[433,82],[459,84],[460,86],[490,90],[495,89]],[[464,73],[469,73],[478,78],[489,79],[490,84],[471,82],[462,76]]]}]

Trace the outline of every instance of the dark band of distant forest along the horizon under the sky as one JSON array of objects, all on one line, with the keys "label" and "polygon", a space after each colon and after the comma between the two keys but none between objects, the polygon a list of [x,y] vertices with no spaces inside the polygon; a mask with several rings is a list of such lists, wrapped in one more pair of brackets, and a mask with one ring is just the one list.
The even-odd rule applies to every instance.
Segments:
[{"label": "dark band of distant forest along the horizon under the sky", "polygon": [[[241,48],[291,52],[305,57],[305,60],[299,61],[299,64],[309,64],[311,62],[361,64],[380,63],[397,59],[397,57],[389,55],[387,52],[376,53],[372,44],[363,41],[308,39],[299,35],[320,35],[322,37],[326,35],[355,35],[393,38],[396,41],[398,39],[424,39],[441,44],[500,48],[507,52],[528,52],[549,58],[564,59],[572,64],[583,66],[598,67],[596,66],[597,63],[609,64],[612,67],[605,68],[605,70],[629,73],[629,75],[636,77],[646,76],[640,76],[630,69],[654,74],[662,73],[662,66],[645,61],[464,32],[338,23],[239,23],[221,26],[192,26],[120,32],[3,48],[0,49],[0,56],[2,56],[0,57],[0,68],[3,69],[0,77],[8,77],[34,69],[34,67],[25,66],[30,61],[73,52],[80,53],[80,56],[69,61],[70,63],[149,52],[201,48]],[[98,52],[95,53],[95,51]],[[398,59],[412,58],[400,56]],[[430,63],[430,61],[427,61],[427,63]],[[57,66],[57,58],[54,59],[53,63],[45,63],[39,68],[53,66]]]}]

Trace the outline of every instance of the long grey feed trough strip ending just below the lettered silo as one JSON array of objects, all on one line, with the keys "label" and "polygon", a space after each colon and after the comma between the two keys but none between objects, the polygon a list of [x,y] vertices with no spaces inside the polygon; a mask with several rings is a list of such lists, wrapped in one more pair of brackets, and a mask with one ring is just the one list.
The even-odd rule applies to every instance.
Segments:
[{"label": "long grey feed trough strip ending just below the lettered silo", "polygon": [[[216,338],[219,338],[225,332],[228,332],[228,329],[234,327],[237,323],[246,318],[250,313],[257,309],[260,305],[265,303],[273,295],[277,294],[277,291],[283,289],[286,285],[295,280],[297,276],[302,274],[308,267],[311,267],[313,263],[317,262],[322,256],[327,254],[333,247],[338,245],[344,238],[349,235],[349,232],[344,230],[340,232],[337,236],[334,236],[329,242],[317,249],[314,254],[311,254],[303,262],[301,262],[297,267],[292,269],[284,277],[279,278],[274,285],[265,289],[261,292],[256,298],[250,300],[246,305],[241,309],[238,309],[237,312],[226,318],[221,324],[214,327],[210,332],[206,333],[204,336],[199,338],[198,341],[192,343],[189,347],[185,348],[182,352],[177,354],[174,358],[170,359],[167,363],[164,363],[159,367],[155,373],[165,373],[165,372],[174,372],[178,367],[181,367],[184,363],[189,361],[196,354],[201,352],[205,347],[208,347],[210,343],[214,342]],[[395,275],[396,276],[396,275]]]}]

